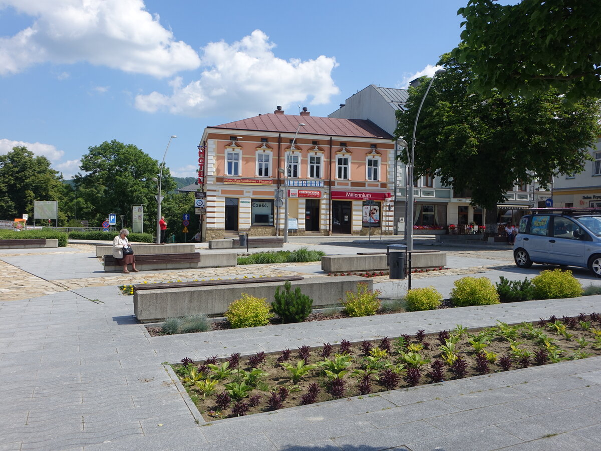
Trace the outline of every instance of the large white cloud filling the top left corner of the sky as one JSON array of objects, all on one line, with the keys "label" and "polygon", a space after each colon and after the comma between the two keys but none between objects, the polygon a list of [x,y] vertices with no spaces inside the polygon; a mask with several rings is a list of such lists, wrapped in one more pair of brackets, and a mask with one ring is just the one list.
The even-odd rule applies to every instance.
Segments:
[{"label": "large white cloud filling the top left corner of the sky", "polygon": [[0,0],[34,17],[28,28],[0,38],[0,75],[34,64],[108,66],[157,77],[196,69],[198,54],[145,11],[142,0]]}]

